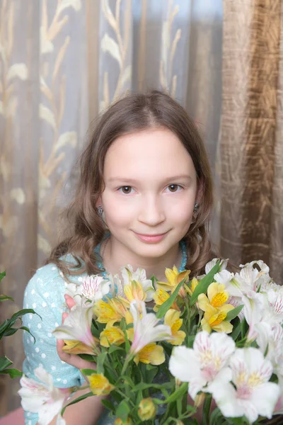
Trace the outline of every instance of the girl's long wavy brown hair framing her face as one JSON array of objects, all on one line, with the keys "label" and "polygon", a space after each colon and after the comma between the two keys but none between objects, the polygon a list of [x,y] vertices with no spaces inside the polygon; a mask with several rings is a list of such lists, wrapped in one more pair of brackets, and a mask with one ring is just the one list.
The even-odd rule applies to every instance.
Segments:
[{"label": "girl's long wavy brown hair framing her face", "polygon": [[[96,203],[104,188],[103,164],[108,148],[117,137],[158,127],[177,135],[192,157],[198,183],[202,183],[200,208],[184,238],[188,250],[186,268],[190,268],[195,276],[211,259],[208,222],[213,203],[212,175],[202,137],[179,103],[167,94],[153,90],[147,94],[129,94],[112,104],[101,116],[81,155],[76,195],[67,210],[67,216],[73,218],[71,236],[57,245],[47,260],[47,263],[55,263],[65,276],[83,271],[100,273],[95,248],[103,240],[105,228]],[[68,253],[76,259],[76,266],[61,258]]]}]

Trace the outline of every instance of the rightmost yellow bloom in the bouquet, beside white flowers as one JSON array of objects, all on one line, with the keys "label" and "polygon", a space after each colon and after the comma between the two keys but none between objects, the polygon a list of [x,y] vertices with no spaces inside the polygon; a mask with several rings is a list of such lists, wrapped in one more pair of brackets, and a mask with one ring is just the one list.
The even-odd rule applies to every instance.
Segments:
[{"label": "rightmost yellow bloom in the bouquet, beside white flowers", "polygon": [[233,305],[225,304],[229,298],[229,293],[225,290],[223,283],[211,283],[207,289],[207,295],[200,294],[197,298],[200,310],[204,311],[201,321],[202,330],[230,334],[233,325],[227,322],[226,315],[233,310]]}]

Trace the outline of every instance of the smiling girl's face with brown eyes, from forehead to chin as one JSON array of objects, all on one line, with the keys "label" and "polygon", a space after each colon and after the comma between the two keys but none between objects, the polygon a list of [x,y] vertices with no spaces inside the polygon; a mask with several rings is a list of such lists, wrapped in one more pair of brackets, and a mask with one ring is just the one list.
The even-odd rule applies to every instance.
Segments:
[{"label": "smiling girl's face with brown eyes, from forehead to chin", "polygon": [[119,137],[106,154],[103,178],[100,204],[117,246],[157,258],[185,236],[199,200],[197,176],[173,132],[158,128]]}]

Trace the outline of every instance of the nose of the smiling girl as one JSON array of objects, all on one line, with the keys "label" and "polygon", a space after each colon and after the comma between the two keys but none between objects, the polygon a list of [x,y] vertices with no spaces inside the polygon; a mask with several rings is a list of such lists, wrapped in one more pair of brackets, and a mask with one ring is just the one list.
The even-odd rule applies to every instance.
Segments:
[{"label": "nose of the smiling girl", "polygon": [[145,225],[154,227],[165,220],[165,212],[160,199],[156,196],[141,200],[138,220]]}]

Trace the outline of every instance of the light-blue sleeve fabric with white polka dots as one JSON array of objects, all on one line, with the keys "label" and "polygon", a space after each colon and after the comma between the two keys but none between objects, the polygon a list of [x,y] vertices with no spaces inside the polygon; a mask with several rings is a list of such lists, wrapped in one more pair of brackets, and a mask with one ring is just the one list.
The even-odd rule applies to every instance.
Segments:
[{"label": "light-blue sleeve fabric with white polka dots", "polygon": [[[79,283],[78,276],[71,280]],[[28,327],[35,336],[34,341],[33,336],[23,331],[25,351],[23,373],[28,378],[37,380],[33,371],[42,364],[42,367],[52,375],[54,386],[60,388],[82,385],[84,382],[79,369],[60,360],[56,339],[52,334],[52,330],[62,323],[62,312],[68,311],[64,293],[65,281],[62,273],[54,264],[48,264],[38,269],[29,281],[23,299],[23,308],[33,308],[41,316],[41,319],[36,314],[26,314],[23,317],[23,326]],[[35,425],[37,419],[37,414],[25,412],[25,425]]]}]

